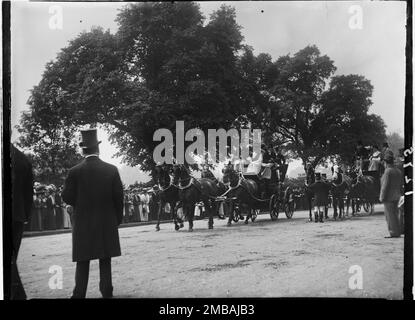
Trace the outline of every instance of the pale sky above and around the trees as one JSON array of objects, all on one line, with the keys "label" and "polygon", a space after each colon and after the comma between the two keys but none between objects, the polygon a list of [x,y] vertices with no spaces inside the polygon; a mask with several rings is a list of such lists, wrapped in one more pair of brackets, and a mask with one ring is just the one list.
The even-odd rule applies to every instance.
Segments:
[{"label": "pale sky above and around the trees", "polygon": [[[202,2],[201,11],[208,18],[222,3]],[[405,2],[229,1],[226,4],[235,7],[244,42],[254,48],[255,54],[269,53],[277,59],[315,44],[321,54],[334,60],[336,75],[365,76],[374,87],[370,112],[384,119],[388,133],[403,135]],[[114,2],[12,3],[12,127],[18,123],[21,112],[28,109],[30,90],[39,83],[45,64],[55,59],[69,40],[92,26],[116,32],[114,20],[118,9],[124,5]],[[50,27],[56,10],[62,12],[61,29]],[[352,28],[356,26],[353,22],[357,21],[358,12],[361,12],[361,28]],[[123,168],[120,159],[112,157],[116,148],[107,142],[105,132],[100,130],[98,134],[103,140],[101,158]],[[14,130],[12,141],[16,138]],[[298,165],[290,165],[289,174],[298,171]],[[127,176],[127,180],[132,179],[130,173]],[[145,180],[146,174],[138,173],[135,178]]]}]

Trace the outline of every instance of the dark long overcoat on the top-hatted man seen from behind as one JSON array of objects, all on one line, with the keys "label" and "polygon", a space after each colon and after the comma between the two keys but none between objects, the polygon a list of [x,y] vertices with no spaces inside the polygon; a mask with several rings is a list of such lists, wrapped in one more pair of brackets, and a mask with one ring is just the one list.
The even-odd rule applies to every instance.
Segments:
[{"label": "dark long overcoat on the top-hatted man seen from behind", "polygon": [[123,187],[115,166],[97,156],[84,159],[69,170],[62,198],[74,207],[73,261],[121,255],[118,225],[123,217]]}]

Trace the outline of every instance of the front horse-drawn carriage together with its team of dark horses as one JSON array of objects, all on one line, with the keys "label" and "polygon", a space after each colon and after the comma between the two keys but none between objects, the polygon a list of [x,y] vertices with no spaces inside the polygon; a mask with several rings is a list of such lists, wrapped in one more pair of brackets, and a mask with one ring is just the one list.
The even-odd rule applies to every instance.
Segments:
[{"label": "front horse-drawn carriage together with its team of dark horses", "polygon": [[[287,167],[276,168],[278,176],[284,177]],[[236,170],[233,166],[227,166],[223,173],[223,182],[219,182],[203,175],[197,179],[181,164],[156,167],[154,176],[160,186],[160,208],[170,204],[176,230],[183,227],[183,218],[186,217],[191,231],[195,211],[200,212],[201,207],[203,216],[209,218],[209,228],[213,228],[213,215],[221,219],[228,216],[228,225],[231,221],[239,221],[244,214],[245,223],[249,219],[255,221],[260,211],[265,210],[269,210],[272,220],[276,220],[281,211],[285,211],[288,219],[293,216],[295,202],[292,190],[282,190],[283,179],[270,179],[267,183],[259,174]],[[178,214],[178,209],[181,214]],[[159,221],[156,230],[160,230]]]}]

